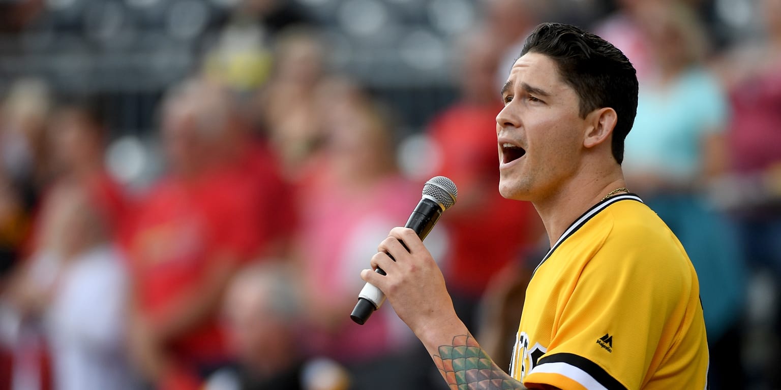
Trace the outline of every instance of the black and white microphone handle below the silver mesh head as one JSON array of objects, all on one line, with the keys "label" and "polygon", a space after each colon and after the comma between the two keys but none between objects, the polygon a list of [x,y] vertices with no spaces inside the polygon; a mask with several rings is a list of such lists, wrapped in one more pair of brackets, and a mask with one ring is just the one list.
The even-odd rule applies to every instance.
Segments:
[{"label": "black and white microphone handle below the silver mesh head", "polygon": [[[409,215],[405,228],[409,228],[415,231],[421,240],[425,239],[429,235],[431,229],[437,224],[440,216],[442,215],[444,208],[436,200],[432,200],[429,197],[424,196],[420,200],[418,206]],[[404,243],[401,243],[404,245]],[[406,247],[406,246],[405,246]],[[391,256],[388,254],[388,256]],[[391,256],[391,259],[393,257]],[[395,259],[394,259],[395,261]],[[385,275],[385,271],[382,268],[375,270],[381,275]],[[350,318],[357,324],[366,324],[369,316],[379,309],[385,300],[385,295],[377,289],[374,285],[366,283],[361,293],[358,294],[358,303],[355,304],[355,309],[352,310]]]}]

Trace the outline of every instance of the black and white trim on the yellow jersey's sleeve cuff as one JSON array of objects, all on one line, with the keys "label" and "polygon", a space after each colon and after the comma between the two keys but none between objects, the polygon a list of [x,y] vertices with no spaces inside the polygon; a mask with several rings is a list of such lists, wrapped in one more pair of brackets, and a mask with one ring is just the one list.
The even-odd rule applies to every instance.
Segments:
[{"label": "black and white trim on the yellow jersey's sleeve cuff", "polygon": [[559,374],[588,390],[626,390],[626,386],[597,363],[574,353],[554,353],[537,362],[530,374]]}]

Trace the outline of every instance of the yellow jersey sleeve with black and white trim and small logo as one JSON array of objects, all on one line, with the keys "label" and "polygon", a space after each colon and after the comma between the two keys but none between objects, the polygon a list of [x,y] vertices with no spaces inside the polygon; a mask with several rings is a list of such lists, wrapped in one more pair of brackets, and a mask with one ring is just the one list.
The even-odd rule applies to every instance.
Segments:
[{"label": "yellow jersey sleeve with black and white trim and small logo", "polygon": [[654,243],[653,237],[611,235],[584,254],[580,275],[559,298],[551,343],[525,385],[642,387],[658,364],[656,350],[676,342],[679,324],[667,319],[686,310],[681,296],[691,285],[683,251]]}]

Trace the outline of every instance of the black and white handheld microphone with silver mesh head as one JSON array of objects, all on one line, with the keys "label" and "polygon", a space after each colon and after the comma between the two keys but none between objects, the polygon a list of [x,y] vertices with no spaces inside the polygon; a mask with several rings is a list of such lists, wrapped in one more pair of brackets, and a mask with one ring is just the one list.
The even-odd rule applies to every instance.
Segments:
[{"label": "black and white handheld microphone with silver mesh head", "polygon": [[[414,230],[421,240],[425,239],[434,225],[437,224],[442,211],[448,210],[455,204],[456,197],[458,197],[458,188],[455,187],[451,179],[444,176],[431,178],[423,186],[423,198],[412,211],[412,215],[409,216],[404,227]],[[392,256],[391,259],[393,259]],[[381,268],[377,268],[375,271],[385,275],[385,271]],[[375,285],[367,282],[358,293],[358,303],[355,304],[350,318],[356,324],[366,324],[369,316],[374,313],[374,310],[379,309],[383,302],[385,302],[385,294]]]}]

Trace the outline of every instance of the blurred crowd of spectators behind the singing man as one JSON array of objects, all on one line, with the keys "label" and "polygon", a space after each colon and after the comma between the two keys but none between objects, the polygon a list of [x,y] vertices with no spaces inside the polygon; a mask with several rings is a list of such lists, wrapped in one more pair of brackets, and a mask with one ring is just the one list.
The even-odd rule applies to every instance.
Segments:
[{"label": "blurred crowd of spectators behind the singing man", "polygon": [[[60,3],[0,2],[0,30],[23,39]],[[0,389],[445,388],[390,305],[349,319],[359,272],[437,175],[459,197],[427,246],[507,367],[547,246],[533,207],[498,194],[495,116],[541,21],[594,30],[637,68],[626,179],[697,269],[711,388],[781,388],[781,0],[477,0],[448,41],[451,104],[412,134],[333,66],[319,3],[226,2],[143,119],[164,162],[141,186],[106,162],[100,90],[2,80]],[[714,10],[737,3],[754,28],[724,34]]]}]

